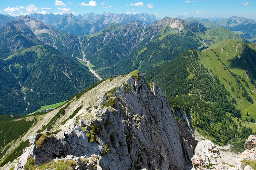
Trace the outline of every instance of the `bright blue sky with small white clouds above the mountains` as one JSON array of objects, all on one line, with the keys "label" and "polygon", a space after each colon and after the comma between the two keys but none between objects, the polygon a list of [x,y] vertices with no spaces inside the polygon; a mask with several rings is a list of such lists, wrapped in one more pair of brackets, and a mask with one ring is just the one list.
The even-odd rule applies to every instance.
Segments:
[{"label": "bright blue sky with small white clouds above the mountains", "polygon": [[255,0],[2,0],[0,13],[12,16],[29,13],[148,13],[159,18],[178,15],[194,17],[246,17],[256,19]]}]

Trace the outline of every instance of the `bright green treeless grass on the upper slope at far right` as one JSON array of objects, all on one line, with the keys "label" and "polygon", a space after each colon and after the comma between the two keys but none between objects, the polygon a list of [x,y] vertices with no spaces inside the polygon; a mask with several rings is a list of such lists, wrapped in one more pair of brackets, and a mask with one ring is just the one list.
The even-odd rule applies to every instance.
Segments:
[{"label": "bright green treeless grass on the upper slope at far right", "polygon": [[[231,93],[232,97],[236,98],[237,108],[242,111],[242,116],[245,118],[246,112],[249,111],[249,117],[252,116],[256,118],[255,87],[250,83],[250,79],[246,75],[246,72],[248,70],[250,70],[255,75],[256,70],[253,66],[249,67],[246,70],[245,67],[243,68],[241,66],[236,66],[234,64],[234,58],[235,58],[234,56],[236,56],[236,58],[239,58],[240,52],[243,53],[241,49],[245,48],[247,45],[248,43],[237,43],[236,40],[223,41],[215,46],[212,46],[200,52],[199,58],[207,68],[212,69],[212,71],[218,75],[220,81],[222,81],[226,89]],[[252,49],[256,50],[255,43],[249,44],[249,45],[252,47]],[[237,47],[237,50],[236,50],[236,47]],[[221,50],[221,48],[224,48],[225,50]],[[248,94],[250,95],[250,97],[252,97],[252,100],[254,102],[253,104],[251,104],[244,97],[242,97],[242,89],[239,90],[238,88],[236,88],[236,79],[229,73],[227,69],[224,70],[225,66],[222,65],[222,63],[218,60],[216,54],[214,54],[214,52],[211,49],[218,54],[221,61],[225,63],[233,73],[245,78],[245,81],[248,82],[250,89],[245,86],[245,82],[241,81],[241,83],[244,85],[244,87],[248,91]],[[243,56],[243,54],[240,55],[240,62],[243,62],[244,57],[245,56]],[[255,57],[254,59],[256,59],[255,52],[251,54],[251,57],[252,58]],[[226,81],[224,81],[223,78]],[[230,84],[228,84],[228,82],[230,82]],[[235,92],[232,92],[231,86],[235,88]],[[240,95],[241,98],[237,98],[237,95]],[[255,124],[253,126],[255,126]]]}]

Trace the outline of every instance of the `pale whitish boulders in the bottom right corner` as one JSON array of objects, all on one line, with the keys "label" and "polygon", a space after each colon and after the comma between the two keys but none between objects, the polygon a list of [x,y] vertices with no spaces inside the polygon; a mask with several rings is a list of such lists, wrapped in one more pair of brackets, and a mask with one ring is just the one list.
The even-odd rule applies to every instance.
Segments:
[{"label": "pale whitish boulders in the bottom right corner", "polygon": [[203,140],[197,144],[195,155],[191,158],[194,166],[191,170],[253,170],[251,166],[244,166],[242,162],[256,160],[256,136],[250,135],[244,147],[246,150],[234,161],[234,167],[231,167],[224,163],[215,144],[210,140]]}]

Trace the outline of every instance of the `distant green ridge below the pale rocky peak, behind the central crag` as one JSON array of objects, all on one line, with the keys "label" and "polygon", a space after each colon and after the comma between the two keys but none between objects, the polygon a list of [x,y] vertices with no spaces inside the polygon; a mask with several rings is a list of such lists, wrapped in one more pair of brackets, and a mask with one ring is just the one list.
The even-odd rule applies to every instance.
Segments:
[{"label": "distant green ridge below the pale rocky peak, behind the central crag", "polygon": [[149,37],[142,41],[137,49],[133,50],[126,58],[121,59],[116,66],[98,72],[110,75],[111,73],[129,73],[132,70],[140,70],[145,73],[163,66],[186,50],[203,50],[226,39],[246,41],[224,28],[206,29],[203,27],[196,30],[183,29],[182,32],[177,32],[175,29],[165,26],[157,31],[152,38]]}]

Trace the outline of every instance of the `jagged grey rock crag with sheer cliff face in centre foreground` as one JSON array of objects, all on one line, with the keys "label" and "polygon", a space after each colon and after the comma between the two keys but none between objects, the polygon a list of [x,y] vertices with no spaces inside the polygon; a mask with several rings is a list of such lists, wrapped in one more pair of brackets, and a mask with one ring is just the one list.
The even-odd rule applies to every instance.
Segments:
[{"label": "jagged grey rock crag with sheer cliff face in centre foreground", "polygon": [[[60,137],[47,132],[42,146],[38,145],[42,134],[31,137],[30,146],[15,169],[24,167],[28,156],[41,165],[52,159],[66,159],[68,155],[76,157],[76,162],[95,155],[97,164],[89,169],[95,165],[102,169],[191,169],[189,158],[196,142],[186,127],[176,121],[161,90],[155,83],[150,87],[141,73],[119,78],[125,77],[127,80],[114,88],[112,94],[96,98],[95,105],[77,120],[75,117],[76,121],[60,132],[62,135],[58,134]],[[90,121],[81,119],[89,114]],[[83,130],[76,122],[80,122]]]}]

